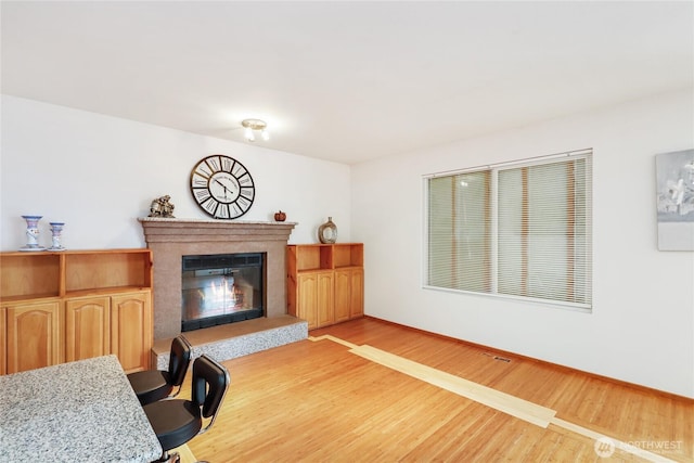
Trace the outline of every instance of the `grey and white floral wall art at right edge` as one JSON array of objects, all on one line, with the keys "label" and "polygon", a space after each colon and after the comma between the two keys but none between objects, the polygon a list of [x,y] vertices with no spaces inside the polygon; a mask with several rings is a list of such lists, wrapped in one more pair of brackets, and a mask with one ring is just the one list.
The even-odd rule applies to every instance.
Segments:
[{"label": "grey and white floral wall art at right edge", "polygon": [[656,156],[658,249],[694,250],[694,150]]}]

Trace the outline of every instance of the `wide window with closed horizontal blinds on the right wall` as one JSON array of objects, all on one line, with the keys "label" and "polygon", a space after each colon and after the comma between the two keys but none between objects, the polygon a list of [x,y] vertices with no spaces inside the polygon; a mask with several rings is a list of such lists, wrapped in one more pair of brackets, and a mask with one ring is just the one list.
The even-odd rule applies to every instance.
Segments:
[{"label": "wide window with closed horizontal blinds on the right wall", "polygon": [[425,177],[425,284],[591,307],[590,150]]}]

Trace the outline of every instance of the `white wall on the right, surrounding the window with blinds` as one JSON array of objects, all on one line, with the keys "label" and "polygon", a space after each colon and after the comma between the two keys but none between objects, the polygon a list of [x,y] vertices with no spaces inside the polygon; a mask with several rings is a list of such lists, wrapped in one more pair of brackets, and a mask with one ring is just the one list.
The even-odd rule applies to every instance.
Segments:
[{"label": "white wall on the right, surrounding the window with blinds", "polygon": [[[694,146],[690,91],[352,167],[365,312],[694,397],[694,252],[658,252],[655,155]],[[422,288],[422,176],[592,147],[593,311]]]}]

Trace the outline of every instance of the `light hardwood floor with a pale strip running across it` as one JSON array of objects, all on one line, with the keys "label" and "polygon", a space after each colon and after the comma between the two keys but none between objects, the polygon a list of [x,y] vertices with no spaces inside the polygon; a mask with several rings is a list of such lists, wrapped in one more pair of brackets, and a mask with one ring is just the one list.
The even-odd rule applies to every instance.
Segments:
[{"label": "light hardwood floor with a pale strip running across it", "polygon": [[310,336],[223,362],[231,387],[188,445],[197,460],[694,461],[692,400],[373,319]]}]

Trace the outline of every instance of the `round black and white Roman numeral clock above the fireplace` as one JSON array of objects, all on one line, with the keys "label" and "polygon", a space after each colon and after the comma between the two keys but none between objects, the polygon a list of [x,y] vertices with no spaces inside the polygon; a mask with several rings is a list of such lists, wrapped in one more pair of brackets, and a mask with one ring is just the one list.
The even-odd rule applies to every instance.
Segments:
[{"label": "round black and white Roman numeral clock above the fireplace", "polygon": [[197,205],[214,218],[235,219],[250,209],[256,189],[243,164],[214,154],[193,167],[191,193]]}]

